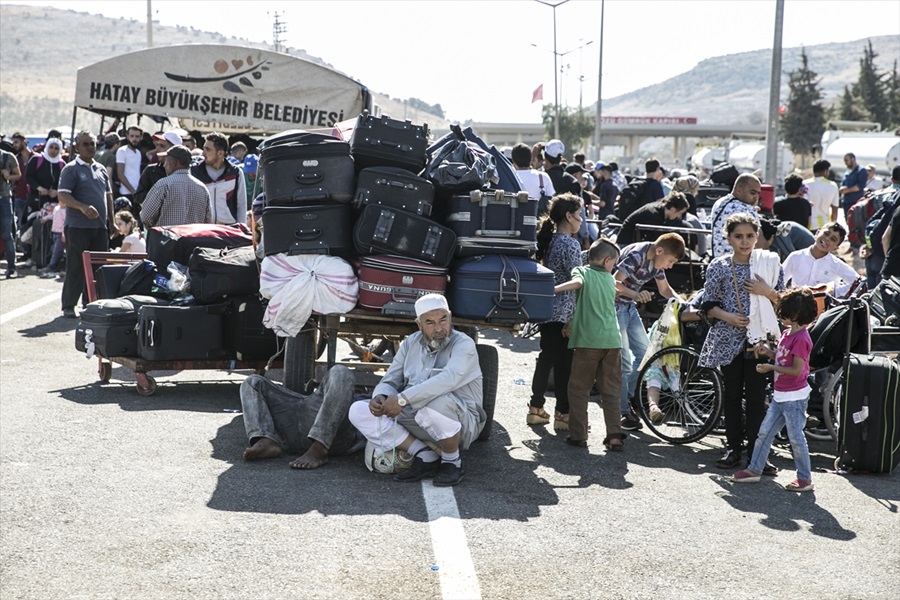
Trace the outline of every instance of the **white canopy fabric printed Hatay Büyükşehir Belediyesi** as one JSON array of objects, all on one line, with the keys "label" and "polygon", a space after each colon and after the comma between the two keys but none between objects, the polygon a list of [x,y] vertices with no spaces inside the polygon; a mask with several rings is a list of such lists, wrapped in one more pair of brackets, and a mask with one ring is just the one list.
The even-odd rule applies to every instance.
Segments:
[{"label": "white canopy fabric printed Hatay B\u00fcy\u00fck\u015fehir Belediyesi", "polygon": [[78,70],[75,106],[189,120],[198,129],[325,129],[371,110],[357,81],[287,54],[188,44],[139,50]]}]

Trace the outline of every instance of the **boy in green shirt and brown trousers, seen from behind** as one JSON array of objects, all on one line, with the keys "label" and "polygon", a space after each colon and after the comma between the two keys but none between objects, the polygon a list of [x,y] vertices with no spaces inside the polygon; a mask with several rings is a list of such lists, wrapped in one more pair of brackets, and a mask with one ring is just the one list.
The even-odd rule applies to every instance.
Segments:
[{"label": "boy in green shirt and brown trousers, seen from behind", "polygon": [[619,248],[600,238],[588,250],[588,264],[572,269],[572,279],[557,285],[556,294],[577,290],[575,312],[569,322],[569,349],[572,373],[569,378],[569,437],[566,443],[587,447],[588,400],[594,382],[600,388],[603,417],[606,421],[608,450],[619,451],[624,435],[619,424],[618,404],[622,385],[622,345],[616,322],[616,280],[612,270]]}]

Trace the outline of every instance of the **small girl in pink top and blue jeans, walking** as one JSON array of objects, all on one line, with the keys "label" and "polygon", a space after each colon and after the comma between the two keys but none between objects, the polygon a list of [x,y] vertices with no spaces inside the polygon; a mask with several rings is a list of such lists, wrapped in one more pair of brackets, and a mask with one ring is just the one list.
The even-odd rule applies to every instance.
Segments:
[{"label": "small girl in pink top and blue jeans, walking", "polygon": [[811,391],[807,383],[809,355],[812,351],[807,326],[816,318],[816,301],[809,288],[794,288],[779,295],[776,312],[787,327],[782,332],[775,364],[756,365],[758,373],[775,373],[775,393],[769,409],[759,426],[750,466],[732,475],[734,483],[754,483],[760,480],[775,435],[787,425],[788,438],[797,479],[784,486],[791,492],[813,489],[809,447],[803,428],[806,426],[806,405]]}]

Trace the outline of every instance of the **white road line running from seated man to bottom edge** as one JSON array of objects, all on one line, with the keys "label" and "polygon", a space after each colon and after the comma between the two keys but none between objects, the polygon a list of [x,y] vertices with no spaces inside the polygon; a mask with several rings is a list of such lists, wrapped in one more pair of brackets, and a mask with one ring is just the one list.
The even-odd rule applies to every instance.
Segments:
[{"label": "white road line running from seated man to bottom edge", "polygon": [[472,564],[453,488],[437,488],[430,481],[424,481],[422,495],[428,510],[434,564],[438,567],[441,582],[441,597],[445,600],[480,600],[481,586]]}]

